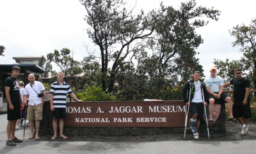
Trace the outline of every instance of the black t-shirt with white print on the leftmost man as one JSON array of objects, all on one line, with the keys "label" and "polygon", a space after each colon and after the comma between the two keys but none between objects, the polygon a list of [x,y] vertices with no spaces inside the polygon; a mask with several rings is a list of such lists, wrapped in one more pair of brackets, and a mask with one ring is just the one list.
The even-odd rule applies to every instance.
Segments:
[{"label": "black t-shirt with white print on the leftmost man", "polygon": [[10,87],[11,101],[20,101],[20,83],[17,78],[10,76],[4,81],[4,87]]}]

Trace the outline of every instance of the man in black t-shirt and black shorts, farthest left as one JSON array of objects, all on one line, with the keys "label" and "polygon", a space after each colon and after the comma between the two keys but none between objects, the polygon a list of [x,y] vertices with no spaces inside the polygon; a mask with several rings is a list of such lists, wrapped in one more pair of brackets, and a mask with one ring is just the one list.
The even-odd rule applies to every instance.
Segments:
[{"label": "man in black t-shirt and black shorts, farthest left", "polygon": [[[15,146],[16,143],[23,141],[15,137],[16,122],[20,119],[20,104],[22,100],[20,97],[20,85],[17,79],[20,74],[20,67],[12,67],[12,76],[6,78],[4,81],[4,90],[7,99],[7,141],[6,146]],[[24,106],[22,106],[23,108]]]}]

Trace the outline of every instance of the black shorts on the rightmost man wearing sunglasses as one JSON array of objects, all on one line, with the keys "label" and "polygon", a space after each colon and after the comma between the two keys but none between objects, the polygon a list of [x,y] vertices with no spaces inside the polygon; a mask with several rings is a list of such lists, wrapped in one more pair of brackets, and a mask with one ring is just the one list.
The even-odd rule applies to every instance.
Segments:
[{"label": "black shorts on the rightmost man wearing sunglasses", "polygon": [[241,103],[234,103],[233,105],[233,116],[234,118],[252,118],[252,111],[250,104],[243,105]]}]

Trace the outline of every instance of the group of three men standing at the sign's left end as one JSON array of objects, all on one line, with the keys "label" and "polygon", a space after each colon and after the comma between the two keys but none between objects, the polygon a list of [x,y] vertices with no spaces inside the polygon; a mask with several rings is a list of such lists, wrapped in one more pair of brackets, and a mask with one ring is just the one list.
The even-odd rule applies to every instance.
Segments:
[{"label": "group of three men standing at the sign's left end", "polygon": [[[29,83],[25,86],[24,90],[20,87],[20,82],[17,79],[20,74],[20,67],[12,67],[12,76],[6,78],[4,81],[4,90],[7,99],[7,146],[15,146],[16,143],[22,143],[23,140],[18,139],[15,136],[15,127],[17,120],[20,119],[20,109],[28,106],[27,119],[29,120],[30,136],[29,139],[35,137],[39,140],[40,120],[42,120],[43,106],[45,100],[45,88],[40,81],[35,81],[35,74],[28,75]],[[50,103],[52,111],[52,127],[54,135],[51,139],[57,137],[57,122],[59,120],[60,137],[67,139],[67,136],[63,134],[63,118],[66,117],[66,102],[67,94],[70,94],[73,99],[81,102],[73,94],[69,85],[63,81],[64,74],[59,72],[57,74],[58,81],[52,83],[50,90]],[[21,82],[22,83],[22,82]],[[22,89],[22,90],[21,90]],[[34,134],[35,126],[35,134]],[[35,135],[35,136],[34,136]]]}]

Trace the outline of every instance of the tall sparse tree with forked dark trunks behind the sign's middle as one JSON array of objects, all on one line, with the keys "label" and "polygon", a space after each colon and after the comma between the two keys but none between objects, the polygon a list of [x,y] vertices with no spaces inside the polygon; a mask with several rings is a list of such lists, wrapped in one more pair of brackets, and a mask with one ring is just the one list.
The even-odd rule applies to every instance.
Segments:
[{"label": "tall sparse tree with forked dark trunks behind the sign's middle", "polygon": [[[101,60],[101,82],[104,91],[111,92],[120,63],[132,52],[131,43],[150,36],[154,26],[150,25],[150,17],[141,11],[134,17],[132,11],[127,11],[122,0],[80,0],[87,15],[85,20],[90,28],[89,38],[99,46]],[[109,64],[113,61],[113,64]],[[112,65],[112,66],[110,66]],[[109,81],[107,81],[108,68]]]}]

